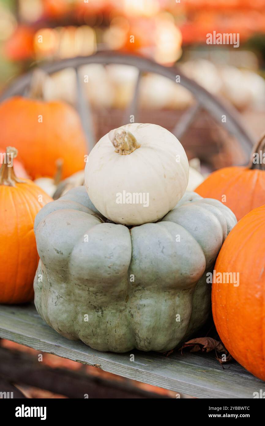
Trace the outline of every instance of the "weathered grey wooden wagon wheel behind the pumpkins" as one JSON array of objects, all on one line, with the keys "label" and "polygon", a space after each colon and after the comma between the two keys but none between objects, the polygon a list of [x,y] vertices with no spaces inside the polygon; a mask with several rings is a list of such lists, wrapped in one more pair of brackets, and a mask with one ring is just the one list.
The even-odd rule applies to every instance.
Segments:
[{"label": "weathered grey wooden wagon wheel behind the pumpkins", "polygon": [[[188,108],[181,116],[181,120],[175,124],[174,130],[172,131],[174,135],[180,139],[185,134],[185,132],[187,132],[192,121],[194,118],[196,118],[198,112],[201,109],[205,109],[217,123],[220,123],[222,116],[225,115],[226,122],[223,123],[225,125],[225,130],[228,132],[228,134],[232,135],[239,141],[242,152],[245,154],[246,158],[249,158],[252,147],[254,145],[254,138],[248,132],[248,130],[245,129],[241,122],[241,118],[234,107],[228,106],[225,104],[225,102],[217,99],[216,96],[211,95],[211,93],[207,92],[207,90],[199,86],[199,84],[195,83],[193,80],[182,74],[180,69],[177,67],[165,67],[153,62],[152,60],[142,58],[140,56],[121,55],[115,52],[97,52],[94,55],[88,57],[65,59],[54,63],[46,63],[40,66],[40,68],[48,74],[53,74],[54,72],[61,71],[62,69],[68,67],[75,69],[77,78],[77,108],[80,114],[81,122],[83,124],[83,129],[85,131],[88,152],[94,147],[94,144],[96,143],[96,137],[93,130],[91,107],[89,101],[85,99],[83,95],[78,69],[82,65],[93,63],[103,65],[110,63],[122,64],[134,66],[138,69],[138,77],[135,84],[134,95],[130,104],[125,110],[123,122],[120,125],[127,124],[130,121],[131,115],[134,115],[134,121],[141,122],[138,113],[138,97],[140,79],[144,72],[160,74],[174,82],[176,82],[176,76],[179,75],[180,82],[176,84],[180,84],[188,89],[192,95],[194,95],[196,103]],[[3,101],[5,98],[10,96],[25,94],[28,86],[31,83],[32,73],[32,71],[28,72],[26,75],[23,75],[14,81],[14,83],[2,94],[0,101]]]}]

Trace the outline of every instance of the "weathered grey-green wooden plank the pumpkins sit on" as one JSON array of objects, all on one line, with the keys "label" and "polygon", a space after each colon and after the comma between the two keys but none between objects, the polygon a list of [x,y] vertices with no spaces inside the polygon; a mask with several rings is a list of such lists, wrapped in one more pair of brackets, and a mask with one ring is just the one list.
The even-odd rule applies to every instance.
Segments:
[{"label": "weathered grey-green wooden plank the pumpkins sit on", "polygon": [[222,369],[205,354],[163,354],[132,351],[99,352],[82,342],[67,340],[43,322],[33,305],[0,306],[0,337],[123,377],[199,398],[253,398],[265,383],[237,363]]}]

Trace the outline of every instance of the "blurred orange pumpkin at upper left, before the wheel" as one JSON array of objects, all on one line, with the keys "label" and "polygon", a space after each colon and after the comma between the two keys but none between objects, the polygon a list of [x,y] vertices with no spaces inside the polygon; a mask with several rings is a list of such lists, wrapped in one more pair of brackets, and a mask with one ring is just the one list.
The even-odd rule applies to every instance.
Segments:
[{"label": "blurred orange pumpkin at upper left, before the wheel", "polygon": [[84,168],[85,138],[77,112],[60,101],[13,97],[0,104],[1,138],[16,142],[19,160],[32,179],[53,177],[63,159],[66,178]]}]

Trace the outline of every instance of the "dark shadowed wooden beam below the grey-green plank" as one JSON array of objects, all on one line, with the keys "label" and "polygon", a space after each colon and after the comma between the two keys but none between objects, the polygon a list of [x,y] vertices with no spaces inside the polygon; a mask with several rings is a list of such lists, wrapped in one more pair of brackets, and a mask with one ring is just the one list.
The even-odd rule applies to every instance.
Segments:
[{"label": "dark shadowed wooden beam below the grey-green plank", "polygon": [[[148,392],[133,386],[128,380],[106,380],[82,371],[51,368],[37,360],[36,355],[0,347],[0,377],[19,385],[46,389],[69,398],[166,398],[165,395]],[[0,390],[9,389],[1,383]],[[3,384],[3,386],[2,386]],[[16,390],[16,388],[15,388]]]}]

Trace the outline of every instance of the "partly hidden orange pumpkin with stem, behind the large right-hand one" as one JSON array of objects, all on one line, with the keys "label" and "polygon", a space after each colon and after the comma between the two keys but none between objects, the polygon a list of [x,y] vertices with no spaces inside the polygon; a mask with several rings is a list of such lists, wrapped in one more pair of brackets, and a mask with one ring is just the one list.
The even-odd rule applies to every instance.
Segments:
[{"label": "partly hidden orange pumpkin with stem, behind the large right-hand one", "polygon": [[[259,155],[260,152],[265,152],[265,136],[254,148],[254,153]],[[217,170],[195,192],[204,198],[224,202],[239,220],[254,208],[265,204],[264,169],[265,164],[254,164],[251,156],[248,167],[225,167]]]}]

